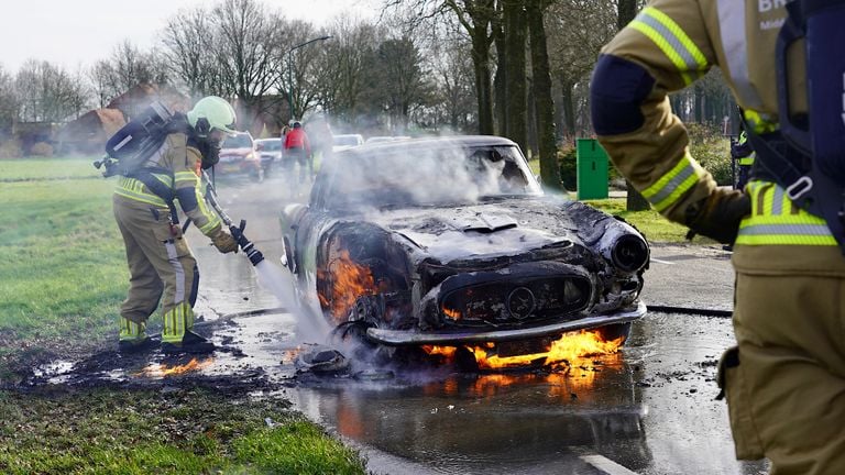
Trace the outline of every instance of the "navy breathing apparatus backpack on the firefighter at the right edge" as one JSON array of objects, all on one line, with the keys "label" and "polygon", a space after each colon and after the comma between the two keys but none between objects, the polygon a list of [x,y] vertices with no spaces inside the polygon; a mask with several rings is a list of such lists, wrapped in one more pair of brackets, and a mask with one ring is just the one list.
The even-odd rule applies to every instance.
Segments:
[{"label": "navy breathing apparatus backpack on the firefighter at the right edge", "polygon": [[[780,130],[757,134],[756,178],[783,187],[793,203],[824,218],[845,254],[845,0],[794,0],[776,46]],[[787,51],[804,41],[806,115],[791,113]]]}]

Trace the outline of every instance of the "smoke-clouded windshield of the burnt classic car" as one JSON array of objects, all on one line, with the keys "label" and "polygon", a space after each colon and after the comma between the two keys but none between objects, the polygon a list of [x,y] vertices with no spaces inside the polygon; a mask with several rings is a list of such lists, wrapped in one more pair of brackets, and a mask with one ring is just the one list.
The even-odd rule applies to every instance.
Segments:
[{"label": "smoke-clouded windshield of the burnt classic car", "polygon": [[322,191],[327,208],[469,205],[541,194],[519,150],[512,145],[356,150],[361,152],[332,164],[332,178]]}]

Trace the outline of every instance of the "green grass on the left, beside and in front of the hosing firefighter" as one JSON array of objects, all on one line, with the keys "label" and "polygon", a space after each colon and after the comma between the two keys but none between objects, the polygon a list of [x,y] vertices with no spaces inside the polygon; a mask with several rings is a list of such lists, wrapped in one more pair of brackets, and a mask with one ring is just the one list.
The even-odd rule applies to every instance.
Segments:
[{"label": "green grass on the left, beside and in front of the hosing firefighter", "polygon": [[[129,274],[113,187],[87,157],[0,159],[0,386],[45,353],[114,344]],[[282,399],[3,387],[2,474],[366,473]]]}]

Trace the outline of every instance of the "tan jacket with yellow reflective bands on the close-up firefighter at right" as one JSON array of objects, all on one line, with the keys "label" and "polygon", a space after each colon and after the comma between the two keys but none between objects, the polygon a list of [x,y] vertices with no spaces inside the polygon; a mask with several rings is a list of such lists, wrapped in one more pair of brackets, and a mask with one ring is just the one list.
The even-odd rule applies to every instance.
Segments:
[{"label": "tan jacket with yellow reflective bands on the close-up firefighter at right", "polygon": [[[775,49],[784,4],[654,0],[603,48],[591,86],[599,141],[623,175],[670,220],[684,223],[691,205],[728,190],[720,189],[691,156],[687,130],[672,114],[668,92],[717,67],[755,132],[777,130]],[[790,64],[802,65],[803,42],[795,46],[788,52]],[[788,75],[794,89],[791,110],[806,111],[803,69]],[[822,218],[794,207],[776,184],[751,181],[749,192],[753,212],[740,223],[737,268],[832,266],[838,251]],[[795,246],[802,246],[799,253]],[[772,261],[772,253],[779,257]],[[838,261],[845,262],[841,255]]]}]

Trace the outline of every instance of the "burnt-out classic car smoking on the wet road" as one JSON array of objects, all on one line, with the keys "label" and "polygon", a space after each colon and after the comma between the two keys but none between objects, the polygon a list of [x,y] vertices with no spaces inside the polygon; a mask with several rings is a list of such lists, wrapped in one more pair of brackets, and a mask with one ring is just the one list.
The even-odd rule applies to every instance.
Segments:
[{"label": "burnt-out classic car smoking on the wet road", "polygon": [[644,236],[546,194],[496,136],[364,144],[322,164],[282,213],[283,261],[342,334],[383,347],[536,352],[597,330],[624,341],[646,307]]}]

